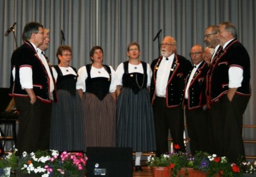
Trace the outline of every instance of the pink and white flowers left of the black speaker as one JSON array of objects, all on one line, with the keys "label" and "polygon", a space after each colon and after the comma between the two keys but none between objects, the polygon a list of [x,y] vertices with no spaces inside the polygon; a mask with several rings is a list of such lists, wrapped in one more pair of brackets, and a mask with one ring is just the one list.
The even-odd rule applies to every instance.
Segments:
[{"label": "pink and white flowers left of the black speaker", "polygon": [[87,157],[83,153],[58,151],[23,152],[19,158],[18,170],[23,174],[46,176],[79,176],[84,174]]}]

